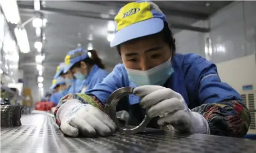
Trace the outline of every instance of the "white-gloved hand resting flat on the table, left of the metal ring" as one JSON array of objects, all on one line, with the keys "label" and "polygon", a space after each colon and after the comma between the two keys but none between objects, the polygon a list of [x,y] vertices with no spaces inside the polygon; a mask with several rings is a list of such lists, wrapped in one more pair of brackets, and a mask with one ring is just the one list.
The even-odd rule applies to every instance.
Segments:
[{"label": "white-gloved hand resting flat on the table, left of the metal ring", "polygon": [[73,109],[61,115],[60,120],[61,131],[71,137],[77,137],[79,132],[86,137],[94,137],[98,134],[107,136],[116,132],[115,123],[110,117],[90,104],[75,105]]}]

